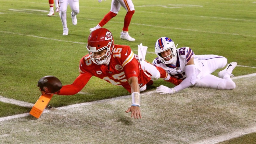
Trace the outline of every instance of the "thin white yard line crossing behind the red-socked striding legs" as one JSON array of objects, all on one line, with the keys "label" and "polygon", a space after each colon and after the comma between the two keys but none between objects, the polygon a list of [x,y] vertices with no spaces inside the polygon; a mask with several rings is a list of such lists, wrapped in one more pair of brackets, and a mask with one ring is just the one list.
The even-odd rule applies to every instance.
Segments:
[{"label": "thin white yard line crossing behind the red-socked striding legs", "polygon": [[[32,13],[32,14],[36,14],[36,13]],[[42,14],[40,14],[40,15],[42,15]],[[80,18],[80,19],[92,20],[92,19],[87,19],[87,18]],[[123,23],[123,22],[120,22],[120,21],[109,21],[109,22],[110,23]],[[164,28],[164,29],[187,30],[187,31],[214,33],[214,34],[225,34],[225,35],[238,35],[238,36],[246,36],[246,37],[256,37],[256,36],[253,36],[253,35],[243,35],[243,34],[238,34],[238,33],[211,32],[211,31],[204,31],[204,30],[191,30],[191,29],[182,29],[182,28],[173,28],[173,27],[164,27],[164,26],[154,26],[154,25],[138,24],[138,23],[131,23],[131,24],[140,25],[140,26],[156,27],[156,28]]]}]

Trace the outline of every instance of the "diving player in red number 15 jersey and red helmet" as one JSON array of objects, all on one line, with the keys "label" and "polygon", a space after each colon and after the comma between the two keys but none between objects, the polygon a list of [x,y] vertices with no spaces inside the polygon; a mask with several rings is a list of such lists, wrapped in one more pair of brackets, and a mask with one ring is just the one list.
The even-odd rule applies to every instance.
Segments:
[{"label": "diving player in red number 15 jersey and red helmet", "polygon": [[131,117],[142,118],[140,91],[146,90],[150,80],[166,78],[169,74],[145,61],[145,57],[140,57],[146,55],[141,54],[141,49],[147,47],[138,45],[136,55],[127,45],[114,45],[111,32],[104,28],[91,32],[86,47],[89,54],[80,60],[80,75],[71,85],[63,86],[55,94],[74,95],[83,89],[92,76],[95,76],[128,90],[132,96],[132,105],[125,112],[131,112]]}]

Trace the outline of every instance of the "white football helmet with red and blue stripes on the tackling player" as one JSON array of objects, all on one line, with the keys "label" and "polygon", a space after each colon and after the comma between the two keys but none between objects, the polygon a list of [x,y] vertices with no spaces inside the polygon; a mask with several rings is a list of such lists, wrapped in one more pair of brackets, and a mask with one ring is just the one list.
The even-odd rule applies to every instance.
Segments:
[{"label": "white football helmet with red and blue stripes on the tackling player", "polygon": [[[161,60],[162,63],[164,64],[176,64],[176,60],[177,60],[177,53],[176,53],[176,47],[178,46],[178,44],[175,46],[174,42],[167,37],[161,37],[157,40],[156,44],[155,44],[155,53],[157,54],[157,56],[159,57],[159,59]],[[161,53],[164,51],[169,50],[171,51],[171,54],[166,56],[166,57],[162,57]],[[165,60],[165,58],[170,58],[170,60]]]}]

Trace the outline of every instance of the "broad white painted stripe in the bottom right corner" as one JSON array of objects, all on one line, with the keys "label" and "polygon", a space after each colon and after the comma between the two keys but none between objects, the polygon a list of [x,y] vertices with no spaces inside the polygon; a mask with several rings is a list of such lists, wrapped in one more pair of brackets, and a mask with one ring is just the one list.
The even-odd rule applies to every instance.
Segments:
[{"label": "broad white painted stripe in the bottom right corner", "polygon": [[222,142],[222,141],[225,141],[225,140],[229,140],[231,138],[237,138],[237,137],[240,137],[240,136],[243,136],[243,135],[246,135],[246,134],[250,134],[250,133],[253,133],[253,132],[256,132],[256,126],[250,127],[250,128],[247,128],[247,129],[239,129],[236,132],[233,132],[233,133],[230,133],[230,134],[225,134],[225,135],[218,136],[218,137],[214,137],[214,138],[211,138],[211,139],[207,138],[206,140],[196,142],[195,144],[215,144],[215,143],[219,143],[219,142]]}]

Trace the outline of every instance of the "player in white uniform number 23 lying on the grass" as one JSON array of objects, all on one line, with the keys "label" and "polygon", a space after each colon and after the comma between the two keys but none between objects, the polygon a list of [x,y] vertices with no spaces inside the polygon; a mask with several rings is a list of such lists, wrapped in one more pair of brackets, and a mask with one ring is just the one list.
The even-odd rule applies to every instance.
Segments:
[{"label": "player in white uniform number 23 lying on the grass", "polygon": [[211,75],[213,71],[223,68],[227,59],[218,55],[194,55],[189,47],[176,49],[177,45],[167,37],[161,37],[155,44],[155,53],[158,55],[153,65],[163,68],[167,73],[183,81],[172,89],[166,86],[157,87],[160,94],[176,93],[190,86],[211,88],[218,90],[232,90],[236,88],[235,82],[230,78],[233,69],[237,66],[232,62],[218,73],[219,77]]}]

